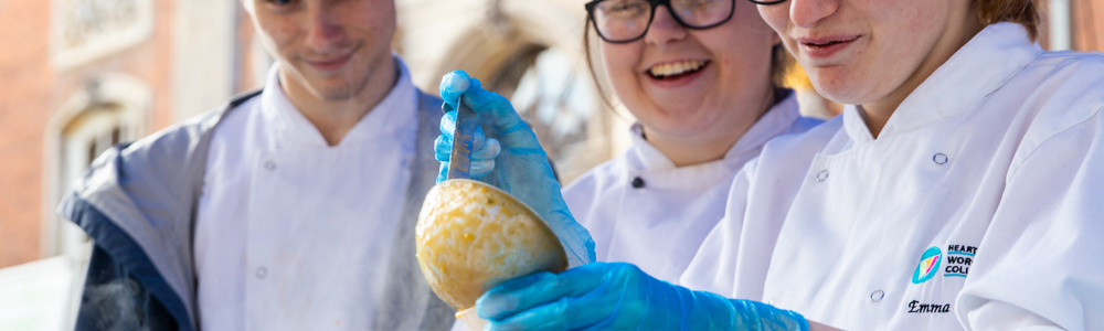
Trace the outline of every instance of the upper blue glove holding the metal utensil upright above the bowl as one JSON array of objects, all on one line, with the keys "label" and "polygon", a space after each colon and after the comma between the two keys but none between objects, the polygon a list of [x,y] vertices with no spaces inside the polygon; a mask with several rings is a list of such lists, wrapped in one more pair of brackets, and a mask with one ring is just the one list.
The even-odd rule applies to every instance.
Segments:
[{"label": "upper blue glove holding the metal utensil upright above the bowl", "polygon": [[456,100],[460,95],[464,104],[479,115],[481,127],[473,143],[471,178],[502,189],[544,218],[563,244],[569,267],[593,261],[594,241],[567,211],[560,195],[560,182],[537,141],[537,134],[521,120],[509,100],[484,89],[478,79],[463,71],[448,73],[440,79],[440,97],[447,113],[440,120],[442,136],[434,148],[437,161],[442,162],[437,182],[444,181],[447,173],[456,128]]}]

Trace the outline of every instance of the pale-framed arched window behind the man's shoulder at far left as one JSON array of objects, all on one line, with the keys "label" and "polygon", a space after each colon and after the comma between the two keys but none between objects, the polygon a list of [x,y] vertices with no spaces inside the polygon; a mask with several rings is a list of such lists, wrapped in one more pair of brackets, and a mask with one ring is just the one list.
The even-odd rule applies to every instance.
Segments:
[{"label": "pale-framed arched window behind the man's shoulder at far left", "polygon": [[[74,92],[54,109],[45,127],[43,260],[36,268],[50,278],[41,278],[33,286],[54,291],[51,292],[54,297],[38,301],[41,305],[57,305],[62,302],[54,300],[67,300],[63,301],[64,312],[41,313],[50,316],[49,319],[62,328],[73,327],[92,243],[83,229],[57,216],[55,210],[73,182],[84,174],[99,153],[115,143],[131,141],[146,134],[151,100],[152,88],[140,79],[121,74],[100,74],[88,79],[84,88]],[[65,282],[68,287],[63,289],[60,284]]]}]

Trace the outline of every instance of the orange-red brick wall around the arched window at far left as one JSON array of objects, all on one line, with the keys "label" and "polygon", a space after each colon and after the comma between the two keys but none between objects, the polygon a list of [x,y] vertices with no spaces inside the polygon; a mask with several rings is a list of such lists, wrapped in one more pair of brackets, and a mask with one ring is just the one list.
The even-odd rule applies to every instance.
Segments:
[{"label": "orange-red brick wall around the arched window at far left", "polygon": [[[171,122],[168,65],[173,1],[157,1],[152,35],[105,57],[56,71],[50,63],[51,1],[0,1],[0,267],[42,258],[46,127],[67,99],[99,74],[121,73],[152,87],[149,132]],[[149,134],[145,132],[145,134]],[[56,159],[56,158],[52,158]],[[67,183],[64,183],[67,186]]]}]

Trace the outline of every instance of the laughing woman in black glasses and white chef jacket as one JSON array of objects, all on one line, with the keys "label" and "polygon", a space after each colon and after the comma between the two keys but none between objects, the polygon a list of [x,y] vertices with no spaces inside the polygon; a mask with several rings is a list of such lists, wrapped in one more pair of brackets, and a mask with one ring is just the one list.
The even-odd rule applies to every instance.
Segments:
[{"label": "laughing woman in black glasses and white chef jacket", "polygon": [[[563,197],[598,260],[676,282],[723,216],[740,168],[772,138],[820,120],[800,117],[795,94],[778,85],[785,50],[753,3],[595,0],[585,8],[587,53],[597,35],[606,82],[637,122],[627,132],[633,147]],[[446,100],[455,99],[449,90],[443,87]],[[440,141],[438,150],[449,151],[452,139]]]}]

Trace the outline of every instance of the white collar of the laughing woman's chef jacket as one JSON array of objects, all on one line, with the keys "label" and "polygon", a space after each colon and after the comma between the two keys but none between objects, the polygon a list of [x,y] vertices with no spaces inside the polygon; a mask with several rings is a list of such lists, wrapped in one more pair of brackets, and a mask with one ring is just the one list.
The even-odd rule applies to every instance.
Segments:
[{"label": "white collar of the laughing woman's chef jacket", "polygon": [[[744,132],[744,136],[740,137],[740,140],[729,148],[729,151],[724,153],[724,159],[722,161],[740,160],[741,158],[736,158],[737,156],[754,151],[756,148],[762,147],[767,140],[771,140],[772,138],[778,136],[783,130],[789,128],[790,124],[802,116],[798,111],[796,94],[793,92],[788,93],[789,95],[767,109],[766,114],[763,114],[763,117],[756,120],[755,124],[753,124],[752,127]],[[649,143],[648,140],[644,138],[644,127],[640,122],[633,124],[633,126],[629,127],[629,132],[631,132],[630,136],[633,137],[633,150],[636,152],[636,159],[639,160],[639,164],[634,164],[635,167],[633,168],[635,169],[631,170],[656,171],[677,168],[671,159],[667,158],[664,152],[656,149],[655,146]]]}]

